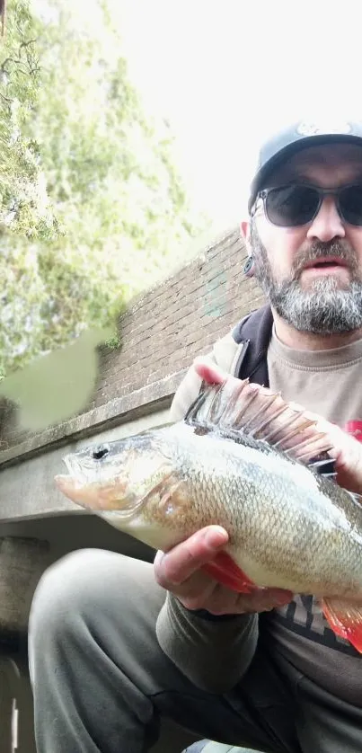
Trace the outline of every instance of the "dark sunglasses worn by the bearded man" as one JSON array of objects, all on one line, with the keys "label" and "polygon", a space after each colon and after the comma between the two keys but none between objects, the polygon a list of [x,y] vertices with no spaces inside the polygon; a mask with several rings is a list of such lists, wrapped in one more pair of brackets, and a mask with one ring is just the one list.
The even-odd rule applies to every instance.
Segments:
[{"label": "dark sunglasses worn by the bearded man", "polygon": [[313,222],[322,206],[322,200],[329,195],[335,197],[336,208],[342,221],[349,225],[362,226],[362,183],[336,189],[322,189],[296,183],[260,190],[258,199],[262,199],[265,214],[272,225],[296,227]]}]

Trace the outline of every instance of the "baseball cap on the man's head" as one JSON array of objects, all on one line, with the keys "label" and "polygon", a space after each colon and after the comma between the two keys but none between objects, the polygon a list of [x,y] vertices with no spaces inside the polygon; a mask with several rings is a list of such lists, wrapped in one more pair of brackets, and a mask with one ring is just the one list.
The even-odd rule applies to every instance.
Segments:
[{"label": "baseball cap on the man's head", "polygon": [[251,212],[258,191],[265,186],[269,173],[305,146],[344,142],[362,146],[362,121],[341,120],[331,122],[309,122],[299,120],[283,130],[279,130],[260,148],[256,173],[250,188],[248,209]]}]

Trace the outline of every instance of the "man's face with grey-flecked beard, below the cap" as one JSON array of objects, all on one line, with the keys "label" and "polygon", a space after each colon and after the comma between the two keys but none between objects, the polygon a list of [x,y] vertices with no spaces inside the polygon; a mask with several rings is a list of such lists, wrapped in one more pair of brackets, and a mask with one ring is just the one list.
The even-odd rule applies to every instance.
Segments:
[{"label": "man's face with grey-flecked beard, below the cap", "polygon": [[[304,149],[269,177],[268,187],[308,183],[338,188],[362,184],[362,148]],[[259,200],[250,225],[255,276],[276,312],[296,330],[328,334],[362,327],[362,227],[340,218],[324,197],[308,225],[272,225]],[[332,258],[336,263],[318,265]]]}]

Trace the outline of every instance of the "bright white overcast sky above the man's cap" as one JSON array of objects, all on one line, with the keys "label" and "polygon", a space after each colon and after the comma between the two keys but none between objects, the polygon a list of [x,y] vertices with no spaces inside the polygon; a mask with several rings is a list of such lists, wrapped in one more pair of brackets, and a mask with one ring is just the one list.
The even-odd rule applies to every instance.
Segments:
[{"label": "bright white overcast sky above the man's cap", "polygon": [[264,136],[362,117],[358,4],[114,0],[128,66],[170,120],[192,200],[222,231],[245,216]]}]

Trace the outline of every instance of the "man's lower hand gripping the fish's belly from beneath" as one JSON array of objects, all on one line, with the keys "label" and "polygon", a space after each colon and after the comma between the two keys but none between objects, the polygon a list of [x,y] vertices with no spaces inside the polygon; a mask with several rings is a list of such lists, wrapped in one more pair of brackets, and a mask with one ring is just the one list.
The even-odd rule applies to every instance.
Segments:
[{"label": "man's lower hand gripping the fish's belly from beneath", "polygon": [[293,598],[290,591],[283,589],[236,593],[202,571],[202,565],[212,562],[227,539],[224,528],[207,526],[166,554],[157,552],[155,580],[163,589],[171,591],[187,609],[206,609],[212,615],[266,612],[287,604]]}]

